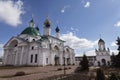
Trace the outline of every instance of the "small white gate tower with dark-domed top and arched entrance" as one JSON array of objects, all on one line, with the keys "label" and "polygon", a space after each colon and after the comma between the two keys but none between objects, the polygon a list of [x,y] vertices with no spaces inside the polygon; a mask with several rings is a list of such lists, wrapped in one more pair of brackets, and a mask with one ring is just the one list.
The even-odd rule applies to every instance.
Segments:
[{"label": "small white gate tower with dark-domed top and arched entrance", "polygon": [[109,48],[106,49],[105,42],[100,38],[98,41],[98,50],[95,49],[96,53],[96,61],[95,65],[97,66],[109,66],[111,59],[110,59],[110,50]]}]

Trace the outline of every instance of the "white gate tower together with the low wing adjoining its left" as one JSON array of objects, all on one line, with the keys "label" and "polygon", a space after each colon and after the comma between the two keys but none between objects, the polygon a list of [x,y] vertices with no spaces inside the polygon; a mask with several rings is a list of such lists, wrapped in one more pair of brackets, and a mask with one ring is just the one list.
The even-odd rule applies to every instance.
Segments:
[{"label": "white gate tower together with the low wing adjoining its left", "polygon": [[[110,50],[106,49],[103,39],[98,41],[98,49],[95,49],[95,56],[87,56],[89,66],[109,66],[111,64]],[[86,54],[87,55],[87,54]],[[79,65],[83,57],[75,57],[76,65]]]}]

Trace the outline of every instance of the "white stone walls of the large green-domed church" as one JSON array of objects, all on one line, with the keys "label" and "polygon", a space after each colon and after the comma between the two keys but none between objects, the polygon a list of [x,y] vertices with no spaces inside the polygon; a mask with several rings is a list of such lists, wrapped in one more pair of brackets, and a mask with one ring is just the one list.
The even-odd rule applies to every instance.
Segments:
[{"label": "white stone walls of the large green-domed church", "polygon": [[[21,37],[26,39],[26,35],[22,35]],[[29,37],[29,40],[34,39],[33,37]],[[17,46],[12,48],[11,42],[16,40],[18,42]],[[51,43],[51,49],[49,44]],[[45,46],[46,45],[46,46]],[[58,47],[58,50],[55,50],[55,46]],[[74,51],[69,48],[69,52],[65,50],[63,46],[63,42],[60,42],[57,39],[50,38],[49,40],[45,40],[42,42],[42,45],[36,43],[35,41],[30,42],[27,44],[22,40],[17,38],[12,38],[8,41],[7,45],[5,45],[4,50],[4,58],[3,64],[4,65],[38,65],[38,66],[46,66],[46,65],[55,65],[55,56],[59,57],[59,64],[64,64],[63,57],[66,58],[65,64],[67,64],[67,58],[70,58],[70,63],[75,63],[75,54]],[[37,54],[37,62],[35,62],[35,55]],[[33,61],[31,62],[31,55],[33,55]]]}]

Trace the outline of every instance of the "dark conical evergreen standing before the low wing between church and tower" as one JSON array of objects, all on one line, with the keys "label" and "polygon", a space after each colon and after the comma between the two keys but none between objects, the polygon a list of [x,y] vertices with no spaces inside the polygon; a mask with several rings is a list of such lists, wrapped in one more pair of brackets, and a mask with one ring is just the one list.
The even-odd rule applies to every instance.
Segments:
[{"label": "dark conical evergreen standing before the low wing between church and tower", "polygon": [[80,62],[81,65],[81,71],[88,71],[89,70],[89,65],[88,65],[88,59],[87,56],[84,54],[83,59]]}]

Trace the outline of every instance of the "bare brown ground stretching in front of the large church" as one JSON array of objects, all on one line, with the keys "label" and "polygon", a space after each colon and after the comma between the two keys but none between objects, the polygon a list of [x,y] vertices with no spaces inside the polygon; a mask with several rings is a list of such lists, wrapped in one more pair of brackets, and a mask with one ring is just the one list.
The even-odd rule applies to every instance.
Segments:
[{"label": "bare brown ground stretching in front of the large church", "polygon": [[[71,67],[71,69],[66,70],[67,74],[73,73],[76,66],[67,66],[68,68]],[[63,74],[64,71],[60,70],[58,71],[58,68],[62,68],[63,66],[46,66],[46,67],[0,67],[0,80],[38,80],[45,77],[50,77],[54,75],[60,75]],[[4,76],[12,76],[16,72],[24,71],[28,75],[25,76],[17,76],[17,77],[8,77],[8,78],[2,78]]]}]

